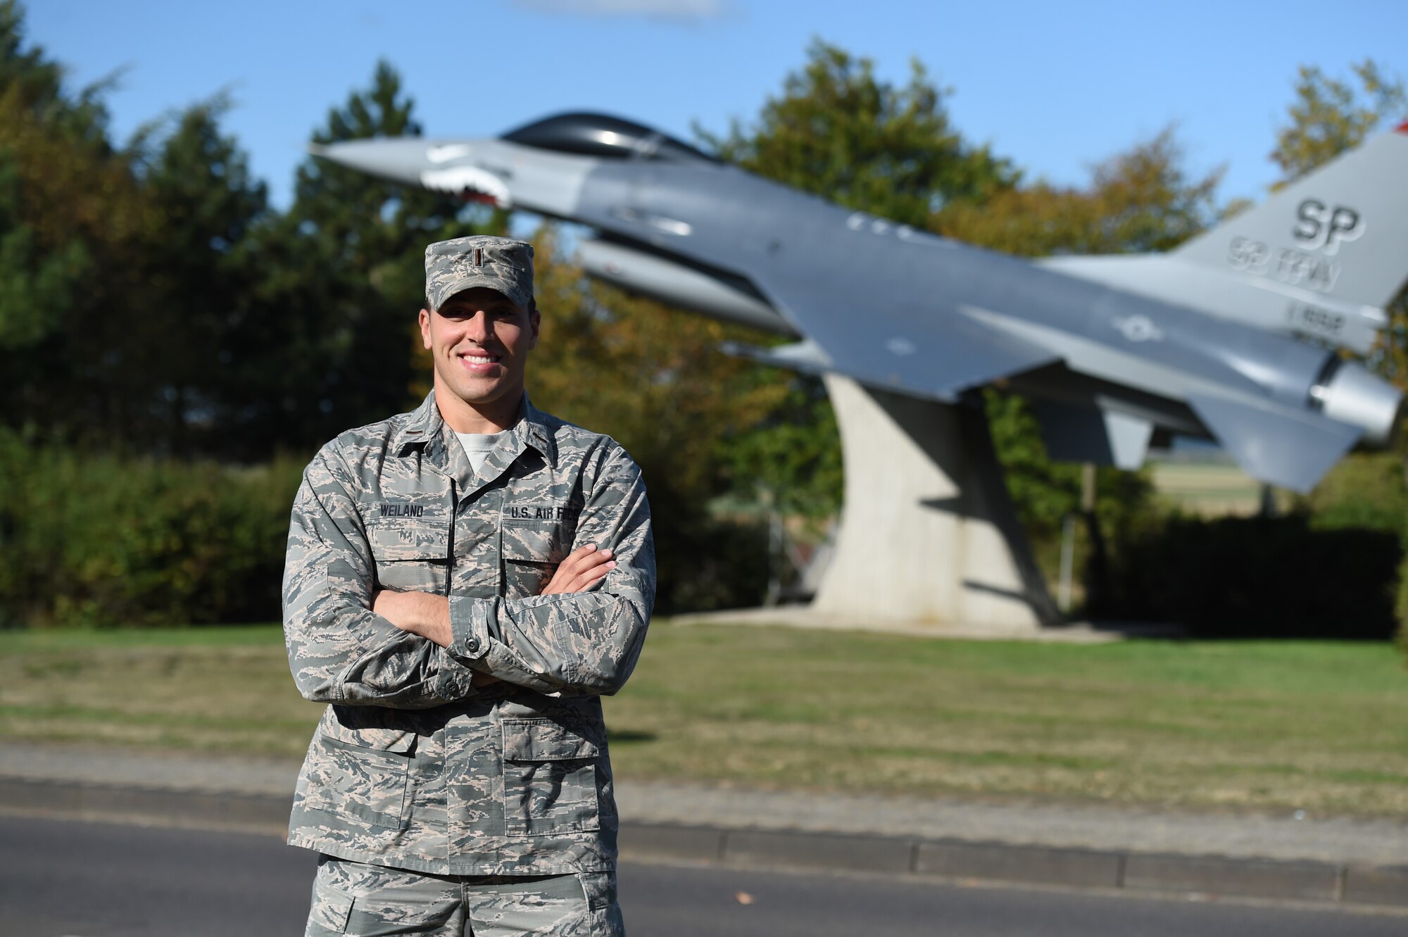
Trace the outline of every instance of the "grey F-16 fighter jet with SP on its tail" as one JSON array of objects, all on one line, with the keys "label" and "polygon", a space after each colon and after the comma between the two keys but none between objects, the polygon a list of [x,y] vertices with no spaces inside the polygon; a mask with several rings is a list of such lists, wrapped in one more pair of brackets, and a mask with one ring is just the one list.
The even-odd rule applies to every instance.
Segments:
[{"label": "grey F-16 fighter jet with SP on its tail", "polygon": [[981,250],[724,165],[639,124],[562,114],[498,139],[377,139],[317,155],[589,225],[589,274],[797,339],[736,353],[953,402],[1002,383],[1052,454],[1142,464],[1209,438],[1307,491],[1402,395],[1311,333],[1366,349],[1408,249],[1408,125],[1159,257]]}]

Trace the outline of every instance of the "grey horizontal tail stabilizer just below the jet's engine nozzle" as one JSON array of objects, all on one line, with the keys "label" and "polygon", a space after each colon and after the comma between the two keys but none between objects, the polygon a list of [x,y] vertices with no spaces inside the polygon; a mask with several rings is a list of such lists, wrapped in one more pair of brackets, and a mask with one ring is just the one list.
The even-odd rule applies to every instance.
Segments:
[{"label": "grey horizontal tail stabilizer just below the jet's engine nozzle", "polygon": [[1315,487],[1362,432],[1338,419],[1270,401],[1246,404],[1190,395],[1188,405],[1243,471],[1301,494]]}]

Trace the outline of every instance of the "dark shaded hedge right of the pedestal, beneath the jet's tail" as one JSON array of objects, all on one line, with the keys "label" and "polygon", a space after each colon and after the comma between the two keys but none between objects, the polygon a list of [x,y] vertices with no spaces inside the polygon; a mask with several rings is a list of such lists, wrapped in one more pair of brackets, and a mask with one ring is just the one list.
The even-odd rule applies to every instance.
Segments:
[{"label": "dark shaded hedge right of the pedestal, beneath the jet's tail", "polygon": [[1408,650],[1408,485],[1397,453],[1353,453],[1280,518],[1173,515],[1115,537],[1093,616],[1200,637],[1343,637]]}]

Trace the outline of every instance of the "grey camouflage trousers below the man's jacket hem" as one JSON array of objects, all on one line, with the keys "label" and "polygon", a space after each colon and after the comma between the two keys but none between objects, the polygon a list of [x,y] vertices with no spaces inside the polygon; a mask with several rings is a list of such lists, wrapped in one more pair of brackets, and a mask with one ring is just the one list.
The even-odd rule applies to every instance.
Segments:
[{"label": "grey camouflage trousers below the man's jacket hem", "polygon": [[307,937],[624,937],[614,872],[427,875],[318,857]]}]

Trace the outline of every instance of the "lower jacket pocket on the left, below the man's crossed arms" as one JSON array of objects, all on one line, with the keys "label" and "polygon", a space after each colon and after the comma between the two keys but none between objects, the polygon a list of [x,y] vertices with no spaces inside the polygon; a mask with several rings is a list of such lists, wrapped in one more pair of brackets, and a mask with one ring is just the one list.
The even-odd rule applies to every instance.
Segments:
[{"label": "lower jacket pocket on the left, below the man's crossed arms", "polygon": [[310,777],[306,806],[355,816],[369,826],[403,829],[410,819],[410,756],[320,736],[322,758]]}]

